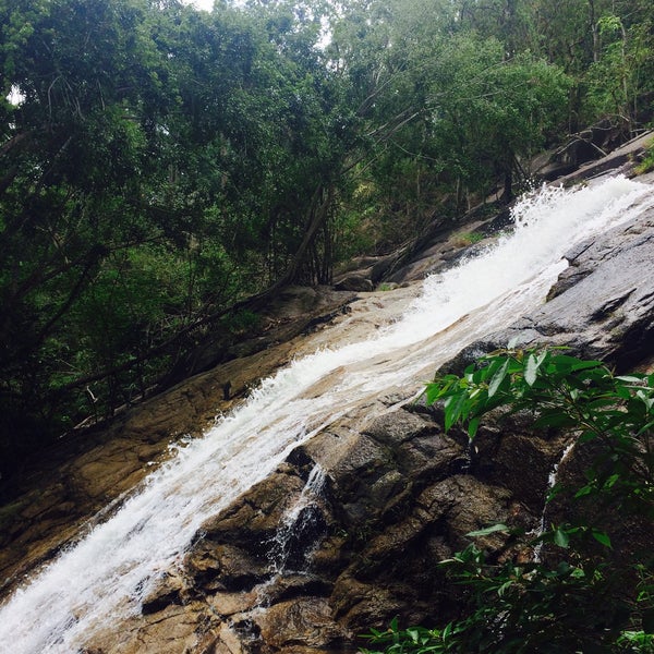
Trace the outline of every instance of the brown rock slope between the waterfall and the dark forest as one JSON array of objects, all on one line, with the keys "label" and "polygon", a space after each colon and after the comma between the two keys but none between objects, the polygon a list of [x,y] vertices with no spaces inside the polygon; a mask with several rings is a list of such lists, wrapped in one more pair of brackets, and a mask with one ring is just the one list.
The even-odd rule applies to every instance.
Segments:
[{"label": "brown rock slope between the waterfall and the dark forest", "polygon": [[[268,307],[265,330],[240,344],[239,358],[128,409],[105,429],[81,431],[44,452],[17,487],[4,488],[0,592],[53,556],[96,511],[110,511],[117,498],[169,456],[170,444],[202,433],[250,386],[290,361],[299,348],[295,337],[319,337],[320,327],[343,315],[353,299],[353,293],[331,289],[290,288]],[[201,349],[194,366],[210,358],[208,348]]]}]

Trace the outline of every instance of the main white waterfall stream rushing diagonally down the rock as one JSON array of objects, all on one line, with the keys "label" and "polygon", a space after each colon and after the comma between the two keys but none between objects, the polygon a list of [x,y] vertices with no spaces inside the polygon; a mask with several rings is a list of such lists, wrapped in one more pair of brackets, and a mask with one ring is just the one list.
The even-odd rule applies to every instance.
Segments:
[{"label": "main white waterfall stream rushing diagonally down the rock", "polygon": [[11,644],[12,654],[70,654],[92,643],[94,630],[138,614],[141,598],[161,571],[180,564],[203,522],[294,447],[385,388],[417,391],[464,344],[537,306],[571,245],[646,204],[654,204],[650,187],[620,178],[522,201],[513,234],[427,279],[393,325],[295,361],[180,448],[111,518],[5,600],[0,643]]}]

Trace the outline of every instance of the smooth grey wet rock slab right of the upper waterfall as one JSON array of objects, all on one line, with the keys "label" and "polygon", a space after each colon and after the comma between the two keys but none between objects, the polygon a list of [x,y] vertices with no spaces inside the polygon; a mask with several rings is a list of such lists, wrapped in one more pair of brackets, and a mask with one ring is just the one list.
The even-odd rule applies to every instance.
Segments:
[{"label": "smooth grey wet rock slab right of the upper waterfall", "polygon": [[580,244],[566,258],[569,267],[538,311],[470,344],[449,368],[461,370],[510,341],[564,346],[618,371],[654,354],[654,209]]}]

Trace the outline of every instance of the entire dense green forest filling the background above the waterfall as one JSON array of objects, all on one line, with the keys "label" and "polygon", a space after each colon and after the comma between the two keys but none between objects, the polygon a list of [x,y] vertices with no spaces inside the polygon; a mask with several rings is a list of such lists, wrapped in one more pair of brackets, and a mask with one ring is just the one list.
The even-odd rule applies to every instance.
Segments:
[{"label": "entire dense green forest filling the background above the waterfall", "polygon": [[0,464],[604,120],[651,0],[0,0]]}]

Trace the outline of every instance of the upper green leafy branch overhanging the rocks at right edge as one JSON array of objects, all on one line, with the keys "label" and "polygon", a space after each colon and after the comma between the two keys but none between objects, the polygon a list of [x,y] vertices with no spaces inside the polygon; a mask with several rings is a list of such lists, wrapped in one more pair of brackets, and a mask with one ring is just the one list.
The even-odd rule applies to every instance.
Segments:
[{"label": "upper green leafy branch overhanging the rocks at right edge", "polygon": [[604,449],[577,495],[602,492],[611,501],[637,501],[652,514],[654,480],[654,374],[615,376],[601,361],[561,350],[507,351],[482,359],[462,376],[444,375],[427,385],[427,403],[443,401],[445,428],[455,423],[476,435],[483,415],[499,407],[530,411],[534,428],[577,434]]}]

